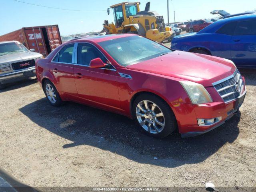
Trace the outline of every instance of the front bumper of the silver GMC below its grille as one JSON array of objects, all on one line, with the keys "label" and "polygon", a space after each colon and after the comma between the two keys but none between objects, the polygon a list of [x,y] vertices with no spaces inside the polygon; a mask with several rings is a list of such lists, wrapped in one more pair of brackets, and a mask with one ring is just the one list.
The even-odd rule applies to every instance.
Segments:
[{"label": "front bumper of the silver GMC below its grille", "polygon": [[0,74],[1,84],[11,83],[36,76],[36,68],[30,67],[19,71]]}]

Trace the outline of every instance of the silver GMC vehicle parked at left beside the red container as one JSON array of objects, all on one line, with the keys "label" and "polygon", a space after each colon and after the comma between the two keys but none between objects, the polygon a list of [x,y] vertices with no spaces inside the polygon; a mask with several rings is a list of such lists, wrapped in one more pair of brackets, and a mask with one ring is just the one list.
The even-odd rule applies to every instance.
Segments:
[{"label": "silver GMC vehicle parked at left beside the red container", "polygon": [[18,41],[0,42],[0,89],[6,83],[16,82],[36,75],[36,59],[42,54],[28,50]]}]

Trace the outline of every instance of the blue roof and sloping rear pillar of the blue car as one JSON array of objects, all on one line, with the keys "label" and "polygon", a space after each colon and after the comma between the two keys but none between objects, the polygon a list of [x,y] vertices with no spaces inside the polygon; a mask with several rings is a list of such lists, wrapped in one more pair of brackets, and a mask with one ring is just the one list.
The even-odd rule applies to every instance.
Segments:
[{"label": "blue roof and sloping rear pillar of the blue car", "polygon": [[229,23],[229,22],[252,20],[252,19],[256,19],[256,14],[247,14],[247,15],[240,15],[240,16],[234,16],[234,17],[230,17],[230,18],[220,19],[220,20],[208,25],[206,28],[203,28],[202,30],[200,30],[198,32],[198,34],[215,32],[220,27],[224,26],[226,23]]}]

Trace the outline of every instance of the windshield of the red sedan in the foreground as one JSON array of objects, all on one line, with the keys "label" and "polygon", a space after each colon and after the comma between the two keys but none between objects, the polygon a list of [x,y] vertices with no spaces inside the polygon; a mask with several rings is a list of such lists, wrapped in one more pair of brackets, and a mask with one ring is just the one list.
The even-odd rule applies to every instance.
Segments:
[{"label": "windshield of the red sedan in the foreground", "polygon": [[167,47],[141,36],[130,36],[98,43],[116,62],[128,66],[172,52]]}]

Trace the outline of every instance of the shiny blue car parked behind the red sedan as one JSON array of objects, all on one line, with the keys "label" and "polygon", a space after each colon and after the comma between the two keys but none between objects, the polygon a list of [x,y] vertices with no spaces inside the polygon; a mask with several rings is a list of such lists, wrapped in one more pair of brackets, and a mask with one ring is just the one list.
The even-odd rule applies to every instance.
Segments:
[{"label": "shiny blue car parked behind the red sedan", "polygon": [[256,14],[216,21],[197,33],[176,36],[172,49],[218,56],[256,68]]}]

